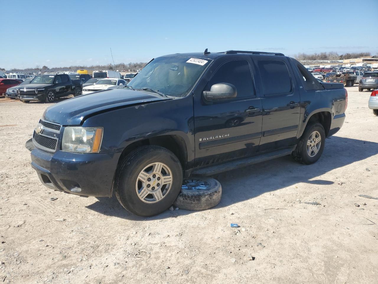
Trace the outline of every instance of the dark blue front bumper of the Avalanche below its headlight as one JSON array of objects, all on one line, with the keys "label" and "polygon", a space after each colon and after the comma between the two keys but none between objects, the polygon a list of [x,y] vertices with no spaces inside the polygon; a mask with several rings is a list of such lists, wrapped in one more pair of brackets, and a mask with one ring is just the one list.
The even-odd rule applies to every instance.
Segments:
[{"label": "dark blue front bumper of the Avalanche below its headlight", "polygon": [[42,184],[68,193],[111,197],[113,178],[121,153],[78,154],[31,151],[31,166]]}]

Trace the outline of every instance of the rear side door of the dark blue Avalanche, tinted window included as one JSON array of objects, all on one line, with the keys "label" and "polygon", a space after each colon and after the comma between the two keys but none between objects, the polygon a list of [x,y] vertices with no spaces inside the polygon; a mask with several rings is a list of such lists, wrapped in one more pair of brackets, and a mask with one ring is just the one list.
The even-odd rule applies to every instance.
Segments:
[{"label": "rear side door of the dark blue Avalanche, tinted window included", "polygon": [[300,118],[299,91],[284,56],[253,56],[259,74],[262,99],[262,137],[260,151],[274,150],[296,143]]}]

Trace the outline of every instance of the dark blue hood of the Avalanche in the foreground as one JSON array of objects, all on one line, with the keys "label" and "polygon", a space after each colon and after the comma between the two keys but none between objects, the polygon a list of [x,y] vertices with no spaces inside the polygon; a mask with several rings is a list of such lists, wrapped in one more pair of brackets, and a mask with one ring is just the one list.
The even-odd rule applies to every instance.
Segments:
[{"label": "dark blue hood of the Avalanche in the foreground", "polygon": [[163,100],[172,100],[172,98],[161,97],[148,91],[107,89],[70,98],[50,106],[45,110],[42,118],[61,125],[81,125],[85,119],[98,113]]}]

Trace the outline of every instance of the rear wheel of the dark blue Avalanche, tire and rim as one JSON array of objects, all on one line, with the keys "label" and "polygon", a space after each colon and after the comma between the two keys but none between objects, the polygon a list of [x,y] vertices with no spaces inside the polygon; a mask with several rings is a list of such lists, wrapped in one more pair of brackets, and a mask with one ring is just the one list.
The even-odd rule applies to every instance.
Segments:
[{"label": "rear wheel of the dark blue Avalanche, tire and rim", "polygon": [[322,155],[324,143],[325,131],[323,125],[319,122],[313,122],[306,126],[297,147],[291,155],[302,164],[313,164]]}]

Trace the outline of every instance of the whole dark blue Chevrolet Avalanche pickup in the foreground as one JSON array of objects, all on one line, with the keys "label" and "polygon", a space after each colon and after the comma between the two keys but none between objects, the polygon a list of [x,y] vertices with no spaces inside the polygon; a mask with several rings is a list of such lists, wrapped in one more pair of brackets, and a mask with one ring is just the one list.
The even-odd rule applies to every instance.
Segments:
[{"label": "whole dark blue Chevrolet Avalanche pickup in the foreground", "polygon": [[282,53],[229,50],[153,59],[127,86],[43,113],[32,167],[51,189],[163,212],[183,178],[291,154],[316,162],[344,123],[347,91]]}]

